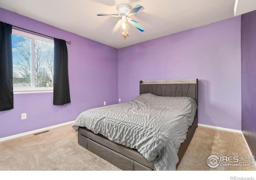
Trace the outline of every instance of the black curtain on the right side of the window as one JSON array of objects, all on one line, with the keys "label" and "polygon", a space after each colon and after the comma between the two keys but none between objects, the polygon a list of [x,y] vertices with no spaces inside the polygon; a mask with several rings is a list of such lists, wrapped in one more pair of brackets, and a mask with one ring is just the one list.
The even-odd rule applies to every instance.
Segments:
[{"label": "black curtain on the right side of the window", "polygon": [[68,50],[65,40],[54,38],[53,104],[70,103]]}]

